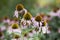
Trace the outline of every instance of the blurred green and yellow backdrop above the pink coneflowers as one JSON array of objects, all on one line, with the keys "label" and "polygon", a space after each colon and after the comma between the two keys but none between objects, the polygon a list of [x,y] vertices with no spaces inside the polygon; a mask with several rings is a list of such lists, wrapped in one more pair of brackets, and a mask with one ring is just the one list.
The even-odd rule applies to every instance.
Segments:
[{"label": "blurred green and yellow backdrop above the pink coneflowers", "polygon": [[0,0],[0,18],[4,16],[12,17],[15,7],[19,3],[22,3],[25,8],[35,16],[39,12],[48,13],[51,5],[56,5],[60,2],[57,3],[56,0]]}]

